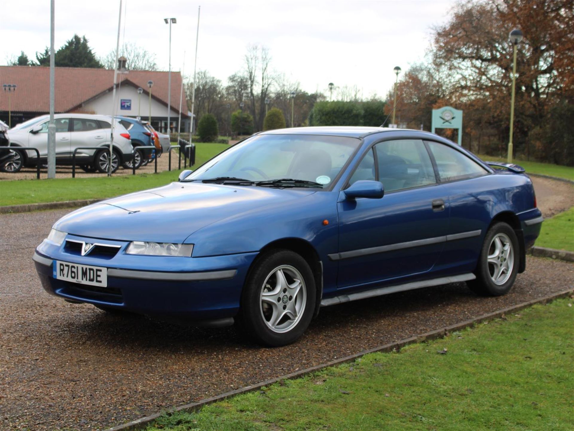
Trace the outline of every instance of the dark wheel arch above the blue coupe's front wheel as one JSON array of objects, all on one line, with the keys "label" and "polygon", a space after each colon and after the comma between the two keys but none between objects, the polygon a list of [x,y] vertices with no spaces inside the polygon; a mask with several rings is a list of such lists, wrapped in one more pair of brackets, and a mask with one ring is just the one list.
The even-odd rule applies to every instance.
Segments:
[{"label": "dark wheel arch above the blue coupe's front wheel", "polygon": [[308,241],[301,238],[281,238],[273,240],[272,242],[266,244],[259,250],[257,258],[251,263],[247,275],[245,277],[245,282],[249,279],[251,271],[257,264],[259,257],[267,253],[270,250],[290,250],[297,253],[302,258],[307,261],[313,271],[313,276],[315,277],[315,289],[317,292],[315,310],[313,310],[313,316],[319,314],[319,308],[321,305],[321,297],[323,296],[323,262],[319,258],[319,253],[315,250],[315,247],[311,245]]}]

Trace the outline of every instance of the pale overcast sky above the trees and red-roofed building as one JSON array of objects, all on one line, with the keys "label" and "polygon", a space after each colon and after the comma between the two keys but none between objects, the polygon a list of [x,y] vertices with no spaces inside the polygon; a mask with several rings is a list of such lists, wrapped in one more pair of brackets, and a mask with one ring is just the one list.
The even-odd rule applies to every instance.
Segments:
[{"label": "pale overcast sky above the trees and red-roofed building", "polygon": [[[272,67],[299,81],[302,90],[327,92],[327,84],[357,86],[364,97],[384,96],[393,68],[421,61],[433,26],[448,19],[456,0],[124,0],[121,39],[156,55],[168,69],[193,73],[197,7],[201,6],[197,69],[226,82],[243,68],[248,44],[269,48]],[[119,0],[56,0],[58,49],[74,33],[86,36],[96,56],[115,49]],[[124,35],[125,28],[125,39]],[[30,59],[50,44],[50,1],[5,1],[0,20],[0,63],[24,51]]]}]

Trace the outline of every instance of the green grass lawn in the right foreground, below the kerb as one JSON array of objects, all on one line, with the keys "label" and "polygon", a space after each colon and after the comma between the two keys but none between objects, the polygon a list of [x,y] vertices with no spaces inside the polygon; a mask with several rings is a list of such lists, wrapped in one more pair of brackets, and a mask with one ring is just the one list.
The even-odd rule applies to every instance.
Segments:
[{"label": "green grass lawn in the right foreground, below the kerb", "polygon": [[569,302],[166,414],[146,430],[572,430]]}]

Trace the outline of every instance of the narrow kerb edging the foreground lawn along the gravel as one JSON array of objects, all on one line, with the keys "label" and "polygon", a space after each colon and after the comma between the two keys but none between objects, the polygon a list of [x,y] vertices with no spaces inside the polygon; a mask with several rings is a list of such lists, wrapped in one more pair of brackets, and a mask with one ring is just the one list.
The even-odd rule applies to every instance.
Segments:
[{"label": "narrow kerb edging the foreground lawn along the gravel", "polygon": [[[475,319],[466,320],[466,321],[457,323],[455,325],[451,325],[451,326],[448,326],[448,327],[445,327],[442,329],[437,329],[436,331],[430,331],[430,332],[422,333],[421,335],[409,337],[409,338],[404,339],[404,340],[394,341],[393,343],[381,345],[379,347],[375,347],[375,348],[360,352],[358,354],[345,356],[344,358],[335,359],[335,360],[332,360],[331,362],[320,364],[320,365],[317,365],[315,367],[306,368],[305,370],[296,371],[296,372],[292,372],[290,374],[286,374],[286,375],[283,375],[283,376],[280,376],[280,377],[277,377],[274,379],[265,380],[265,382],[255,383],[255,385],[242,387],[241,389],[236,389],[234,391],[230,391],[230,392],[224,393],[222,395],[218,395],[216,397],[205,398],[205,399],[202,399],[202,400],[197,401],[197,402],[193,402],[193,403],[189,403],[189,404],[186,404],[183,406],[175,407],[175,408],[170,409],[168,411],[187,411],[188,413],[191,413],[193,411],[198,411],[202,407],[207,406],[209,404],[212,404],[214,402],[223,401],[224,399],[234,397],[235,395],[245,394],[247,392],[260,390],[262,387],[273,385],[274,383],[281,382],[282,380],[296,379],[296,378],[300,378],[302,376],[311,374],[313,372],[321,371],[327,367],[332,367],[332,366],[336,366],[336,365],[340,365],[340,364],[348,363],[348,362],[354,362],[356,359],[361,358],[364,355],[374,353],[374,352],[384,352],[384,353],[388,353],[388,352],[392,352],[392,351],[399,352],[401,350],[401,348],[405,347],[406,345],[443,338],[445,336],[448,336],[449,333],[452,333],[455,331],[461,331],[462,329],[465,329],[468,327],[473,327],[474,325],[476,325],[478,323],[482,323],[484,321],[489,321],[492,319],[499,319],[499,318],[505,316],[506,314],[518,312],[519,310],[528,308],[529,306],[534,305],[534,304],[548,304],[549,302],[552,302],[558,298],[568,297],[572,293],[574,293],[574,290],[568,289],[568,290],[564,290],[563,292],[554,293],[554,294],[549,295],[549,296],[538,298],[536,300],[532,300],[532,301],[528,301],[528,302],[522,302],[522,304],[514,305],[511,307],[502,309],[502,310],[495,311],[493,313],[483,314],[483,316],[476,317]],[[166,412],[154,413],[150,416],[146,416],[144,418],[140,418],[140,419],[137,419],[135,421],[127,422],[127,424],[114,426],[113,428],[108,428],[106,431],[141,430],[141,429],[145,428],[146,426],[150,425],[151,422],[156,420],[158,417],[162,416],[162,414],[164,414],[164,413],[166,413]]]}]

